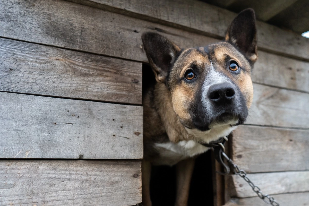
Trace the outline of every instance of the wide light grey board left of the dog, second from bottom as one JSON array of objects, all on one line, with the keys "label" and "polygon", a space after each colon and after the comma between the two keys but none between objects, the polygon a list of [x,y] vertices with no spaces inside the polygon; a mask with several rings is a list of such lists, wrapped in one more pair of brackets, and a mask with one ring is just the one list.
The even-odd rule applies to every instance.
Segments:
[{"label": "wide light grey board left of the dog, second from bottom", "polygon": [[0,92],[0,158],[141,159],[143,108]]}]

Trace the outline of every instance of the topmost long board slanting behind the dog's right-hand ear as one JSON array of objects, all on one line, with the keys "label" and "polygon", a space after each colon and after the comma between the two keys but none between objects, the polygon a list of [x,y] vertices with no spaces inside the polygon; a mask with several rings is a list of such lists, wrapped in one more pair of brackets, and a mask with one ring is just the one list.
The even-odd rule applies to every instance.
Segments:
[{"label": "topmost long board slanting behind the dog's right-hand ear", "polygon": [[[236,16],[231,11],[197,0],[71,1],[165,23],[217,38],[225,36],[227,27]],[[103,7],[100,5],[103,5]],[[299,34],[260,21],[257,22],[257,32],[260,49],[309,60],[309,40],[302,38]]]}]

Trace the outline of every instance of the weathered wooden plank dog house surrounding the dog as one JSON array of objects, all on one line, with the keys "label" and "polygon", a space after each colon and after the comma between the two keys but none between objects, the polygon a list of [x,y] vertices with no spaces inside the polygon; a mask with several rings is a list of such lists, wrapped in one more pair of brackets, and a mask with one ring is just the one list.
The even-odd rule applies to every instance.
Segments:
[{"label": "weathered wooden plank dog house surrounding the dog", "polygon": [[[141,34],[207,45],[222,40],[232,11],[253,7],[264,21],[257,22],[254,99],[227,153],[281,206],[309,205],[309,39],[301,36],[309,5],[258,2],[2,0],[0,204],[139,204],[148,81]],[[196,168],[208,173],[196,173],[198,190],[190,193],[209,197],[194,205],[267,205],[239,176],[216,174],[222,168],[210,155],[198,159]]]}]

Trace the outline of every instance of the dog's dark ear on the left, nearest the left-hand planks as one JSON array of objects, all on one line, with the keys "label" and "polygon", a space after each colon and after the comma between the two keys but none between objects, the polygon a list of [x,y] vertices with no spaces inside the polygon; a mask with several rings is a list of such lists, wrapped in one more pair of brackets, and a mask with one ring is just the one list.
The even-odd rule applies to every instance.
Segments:
[{"label": "dog's dark ear on the left, nearest the left-hand planks", "polygon": [[164,36],[154,32],[143,33],[142,41],[157,82],[164,83],[180,48]]}]

